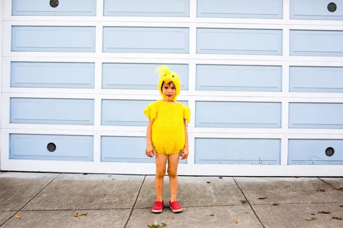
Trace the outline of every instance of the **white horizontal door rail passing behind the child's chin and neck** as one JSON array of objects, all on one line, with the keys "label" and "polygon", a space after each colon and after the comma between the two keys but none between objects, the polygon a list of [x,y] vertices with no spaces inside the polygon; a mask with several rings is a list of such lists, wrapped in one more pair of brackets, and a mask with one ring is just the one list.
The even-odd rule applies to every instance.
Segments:
[{"label": "white horizontal door rail passing behind the child's chin and neck", "polygon": [[[6,79],[5,79],[6,81]],[[6,88],[3,93],[11,97],[85,98],[85,99],[129,99],[157,100],[157,90],[120,89],[61,89],[61,88]],[[178,100],[197,101],[255,101],[255,102],[343,102],[342,93],[301,93],[301,92],[239,92],[239,91],[181,91]]]}]

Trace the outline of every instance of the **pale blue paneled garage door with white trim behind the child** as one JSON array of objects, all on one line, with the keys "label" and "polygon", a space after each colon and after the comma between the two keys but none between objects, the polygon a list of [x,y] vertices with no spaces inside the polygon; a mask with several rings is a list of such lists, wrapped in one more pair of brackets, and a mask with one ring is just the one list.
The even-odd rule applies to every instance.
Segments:
[{"label": "pale blue paneled garage door with white trim behind the child", "polygon": [[167,64],[192,115],[179,175],[342,176],[339,4],[4,0],[1,169],[154,174]]}]

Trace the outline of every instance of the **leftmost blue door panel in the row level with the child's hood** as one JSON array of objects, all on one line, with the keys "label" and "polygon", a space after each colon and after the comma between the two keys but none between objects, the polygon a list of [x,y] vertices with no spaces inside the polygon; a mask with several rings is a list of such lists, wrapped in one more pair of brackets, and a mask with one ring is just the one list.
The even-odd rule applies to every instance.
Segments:
[{"label": "leftmost blue door panel in the row level with the child's hood", "polygon": [[94,88],[94,63],[11,63],[11,87]]}]

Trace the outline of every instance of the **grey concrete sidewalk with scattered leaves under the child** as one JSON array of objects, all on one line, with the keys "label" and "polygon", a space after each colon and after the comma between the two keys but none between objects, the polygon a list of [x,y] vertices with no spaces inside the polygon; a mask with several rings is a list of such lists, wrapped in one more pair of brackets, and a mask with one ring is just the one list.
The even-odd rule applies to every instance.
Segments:
[{"label": "grey concrete sidewalk with scattered leaves under the child", "polygon": [[343,227],[342,178],[179,177],[179,214],[164,180],[153,214],[153,176],[0,173],[0,226]]}]

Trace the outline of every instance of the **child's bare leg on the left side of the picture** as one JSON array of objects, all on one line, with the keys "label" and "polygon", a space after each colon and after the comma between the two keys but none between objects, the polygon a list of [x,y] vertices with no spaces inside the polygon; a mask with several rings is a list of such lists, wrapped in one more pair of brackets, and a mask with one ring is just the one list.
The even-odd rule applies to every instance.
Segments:
[{"label": "child's bare leg on the left side of the picture", "polygon": [[155,163],[156,163],[156,176],[155,176],[155,192],[156,201],[162,202],[163,193],[163,179],[165,175],[165,164],[167,161],[167,156],[165,154],[156,153]]}]

